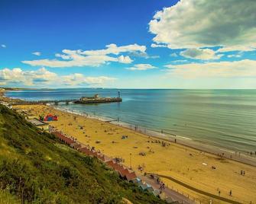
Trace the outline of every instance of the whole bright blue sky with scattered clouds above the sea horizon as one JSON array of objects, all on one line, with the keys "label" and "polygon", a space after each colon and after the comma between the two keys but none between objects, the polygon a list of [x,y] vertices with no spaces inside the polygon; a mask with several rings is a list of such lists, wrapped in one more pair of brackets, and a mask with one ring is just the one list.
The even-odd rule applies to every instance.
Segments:
[{"label": "whole bright blue sky with scattered clouds above the sea horizon", "polygon": [[1,0],[0,86],[256,88],[254,0]]}]

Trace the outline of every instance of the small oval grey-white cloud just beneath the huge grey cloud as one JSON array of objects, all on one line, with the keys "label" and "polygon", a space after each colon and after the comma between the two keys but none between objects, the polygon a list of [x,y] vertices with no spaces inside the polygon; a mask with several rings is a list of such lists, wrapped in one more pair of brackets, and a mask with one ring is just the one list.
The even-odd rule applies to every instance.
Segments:
[{"label": "small oval grey-white cloud just beneath the huge grey cloud", "polygon": [[180,56],[184,56],[190,59],[220,59],[223,55],[216,55],[215,51],[212,49],[199,49],[199,48],[190,48],[180,52]]}]

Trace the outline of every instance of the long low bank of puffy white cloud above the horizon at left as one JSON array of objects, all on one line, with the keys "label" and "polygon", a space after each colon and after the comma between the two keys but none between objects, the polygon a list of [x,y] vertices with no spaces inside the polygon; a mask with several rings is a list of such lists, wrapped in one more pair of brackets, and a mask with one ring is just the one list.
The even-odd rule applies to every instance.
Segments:
[{"label": "long low bank of puffy white cloud above the horizon at left", "polygon": [[20,68],[1,69],[0,84],[18,84],[18,85],[44,85],[44,86],[62,86],[62,85],[104,85],[105,83],[115,81],[115,78],[107,76],[89,77],[83,74],[75,73],[70,75],[57,75],[54,72],[49,72],[45,68],[35,71],[23,71]]}]

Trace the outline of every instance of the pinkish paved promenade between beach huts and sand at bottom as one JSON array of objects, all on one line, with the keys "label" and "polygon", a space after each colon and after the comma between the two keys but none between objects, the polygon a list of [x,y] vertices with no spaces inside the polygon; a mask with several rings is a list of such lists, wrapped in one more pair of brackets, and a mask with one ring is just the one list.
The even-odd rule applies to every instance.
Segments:
[{"label": "pinkish paved promenade between beach huts and sand at bottom", "polygon": [[[160,188],[160,184],[157,183],[157,180],[155,180],[155,179],[152,179],[150,177],[145,177],[145,176],[139,176],[139,178],[141,180],[144,180],[146,183],[150,184],[151,186],[153,186],[155,189]],[[188,199],[186,196],[183,196],[182,194],[177,193],[177,191],[171,190],[167,187],[165,187],[163,192],[167,197],[170,197],[173,201],[178,201],[178,202],[183,203],[183,204],[193,204],[193,203],[195,203],[195,202],[193,202],[193,200]]]}]

